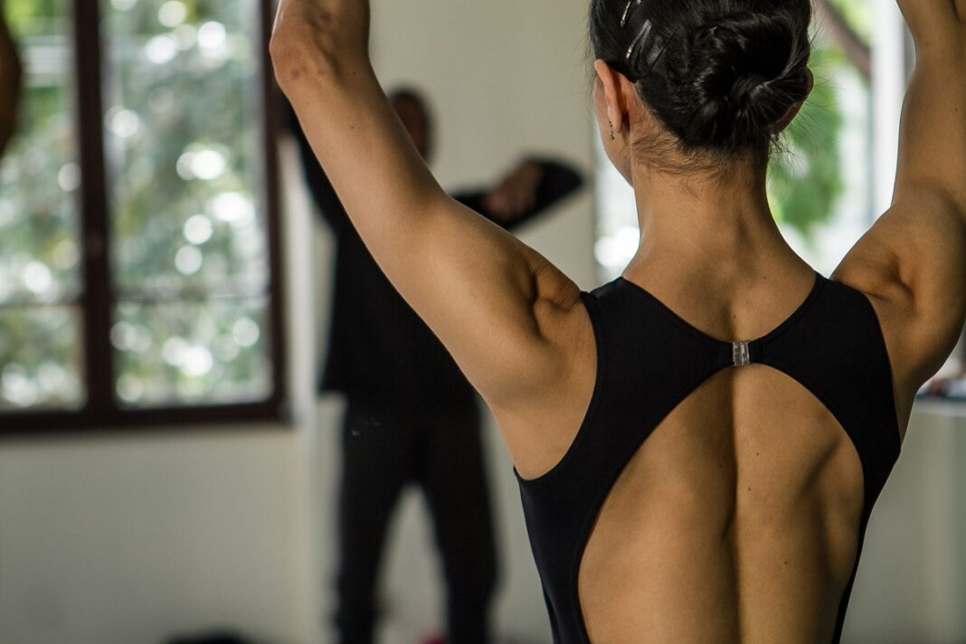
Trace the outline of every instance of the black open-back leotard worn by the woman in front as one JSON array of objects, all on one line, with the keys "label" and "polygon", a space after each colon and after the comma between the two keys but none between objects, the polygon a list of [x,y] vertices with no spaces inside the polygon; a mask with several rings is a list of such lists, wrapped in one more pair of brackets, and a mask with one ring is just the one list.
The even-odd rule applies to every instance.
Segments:
[{"label": "black open-back leotard worn by the woman in front", "polygon": [[[594,393],[574,444],[554,469],[520,483],[530,545],[555,644],[588,644],[578,596],[583,549],[617,477],[640,445],[706,379],[735,367],[734,346],[620,277],[582,293],[597,342]],[[866,295],[815,273],[802,306],[750,343],[751,361],[796,379],[835,415],[863,465],[860,551],[843,593],[838,644],[872,506],[899,454],[892,369]]]}]

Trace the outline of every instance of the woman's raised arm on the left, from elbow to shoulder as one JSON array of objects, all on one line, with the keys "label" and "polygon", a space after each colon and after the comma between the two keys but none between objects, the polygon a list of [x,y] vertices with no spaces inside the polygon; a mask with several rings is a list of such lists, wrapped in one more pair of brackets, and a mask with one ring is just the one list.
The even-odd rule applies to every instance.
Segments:
[{"label": "woman's raised arm on the left, from elbow to shoulder", "polygon": [[368,34],[367,0],[281,0],[278,83],[366,247],[480,394],[497,406],[539,395],[568,366],[557,322],[580,290],[440,188],[385,98]]}]

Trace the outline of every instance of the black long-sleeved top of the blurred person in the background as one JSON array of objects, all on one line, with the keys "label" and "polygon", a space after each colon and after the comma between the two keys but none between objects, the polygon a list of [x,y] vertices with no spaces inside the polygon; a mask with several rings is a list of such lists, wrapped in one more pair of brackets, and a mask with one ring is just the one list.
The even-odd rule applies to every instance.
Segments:
[{"label": "black long-sleeved top of the blurred person in the background", "polygon": [[[335,285],[327,363],[320,391],[335,391],[384,409],[476,407],[476,395],[449,351],[385,277],[355,227],[290,111],[305,181],[335,235]],[[487,190],[453,197],[514,231],[536,219],[582,185],[570,166],[535,159],[543,170],[533,206],[514,221],[501,222],[485,206]]]}]

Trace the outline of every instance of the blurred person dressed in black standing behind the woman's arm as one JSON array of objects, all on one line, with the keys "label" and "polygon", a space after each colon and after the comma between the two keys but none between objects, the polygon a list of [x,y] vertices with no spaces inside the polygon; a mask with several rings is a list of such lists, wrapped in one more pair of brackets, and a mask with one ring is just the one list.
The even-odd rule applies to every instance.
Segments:
[{"label": "blurred person dressed in black standing behind the woman's arm", "polygon": [[[426,99],[401,88],[389,100],[429,162],[434,126]],[[293,112],[290,124],[305,180],[335,236],[331,328],[320,390],[340,392],[348,403],[341,428],[334,615],[339,641],[373,641],[374,596],[389,519],[400,492],[415,483],[435,523],[447,591],[448,642],[490,642],[497,552],[476,394],[366,249]],[[581,184],[571,165],[528,155],[496,185],[453,196],[512,231]]]}]

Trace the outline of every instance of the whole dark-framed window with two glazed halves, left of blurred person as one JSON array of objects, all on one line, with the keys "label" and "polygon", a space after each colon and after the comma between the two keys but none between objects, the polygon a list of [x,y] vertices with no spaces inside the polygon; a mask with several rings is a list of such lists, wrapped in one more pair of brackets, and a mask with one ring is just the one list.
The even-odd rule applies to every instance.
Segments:
[{"label": "whole dark-framed window with two glazed halves, left of blurred person", "polygon": [[4,9],[0,431],[277,417],[268,0]]}]

